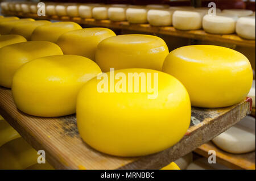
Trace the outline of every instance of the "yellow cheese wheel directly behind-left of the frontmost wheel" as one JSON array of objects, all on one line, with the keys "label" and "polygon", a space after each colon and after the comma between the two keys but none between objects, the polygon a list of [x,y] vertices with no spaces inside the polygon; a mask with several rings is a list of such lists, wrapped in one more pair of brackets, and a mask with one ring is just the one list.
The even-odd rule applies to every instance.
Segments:
[{"label": "yellow cheese wheel directly behind-left of the frontmost wheel", "polygon": [[19,110],[35,116],[53,117],[76,112],[82,85],[101,73],[89,58],[59,55],[38,58],[16,71],[13,98]]}]

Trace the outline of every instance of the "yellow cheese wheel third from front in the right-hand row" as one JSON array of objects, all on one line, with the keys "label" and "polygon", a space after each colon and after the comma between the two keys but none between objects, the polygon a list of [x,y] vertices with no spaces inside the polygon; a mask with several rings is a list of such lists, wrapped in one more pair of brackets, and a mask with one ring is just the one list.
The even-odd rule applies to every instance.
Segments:
[{"label": "yellow cheese wheel third from front in the right-hand row", "polygon": [[84,28],[64,33],[57,44],[64,54],[76,54],[95,60],[95,52],[100,41],[115,36],[108,28]]}]

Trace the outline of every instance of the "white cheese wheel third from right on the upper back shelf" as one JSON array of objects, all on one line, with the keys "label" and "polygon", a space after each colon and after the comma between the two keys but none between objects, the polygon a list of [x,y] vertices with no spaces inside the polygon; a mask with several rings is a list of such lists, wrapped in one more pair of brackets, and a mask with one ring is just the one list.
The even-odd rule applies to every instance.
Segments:
[{"label": "white cheese wheel third from right on the upper back shelf", "polygon": [[202,27],[202,16],[196,11],[174,11],[172,24],[178,30],[198,30]]}]

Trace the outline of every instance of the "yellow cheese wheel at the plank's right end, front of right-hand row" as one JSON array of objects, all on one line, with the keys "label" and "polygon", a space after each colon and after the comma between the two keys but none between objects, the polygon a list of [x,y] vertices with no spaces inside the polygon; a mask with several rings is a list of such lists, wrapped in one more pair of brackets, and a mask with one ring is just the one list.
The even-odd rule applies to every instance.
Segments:
[{"label": "yellow cheese wheel at the plank's right end, front of right-hand row", "polygon": [[191,45],[173,50],[163,71],[188,90],[192,106],[225,107],[240,102],[250,91],[253,71],[236,50],[213,45]]}]

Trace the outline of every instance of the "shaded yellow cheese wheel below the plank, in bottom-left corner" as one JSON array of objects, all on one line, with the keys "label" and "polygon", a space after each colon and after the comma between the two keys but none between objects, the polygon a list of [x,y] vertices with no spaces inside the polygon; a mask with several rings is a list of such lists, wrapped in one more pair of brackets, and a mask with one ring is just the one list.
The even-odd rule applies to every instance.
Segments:
[{"label": "shaded yellow cheese wheel below the plank, in bottom-left corner", "polygon": [[7,142],[0,148],[0,170],[20,170],[38,162],[37,151],[22,138]]}]

